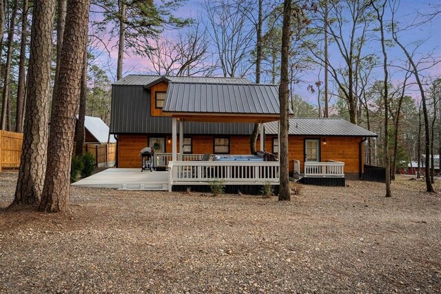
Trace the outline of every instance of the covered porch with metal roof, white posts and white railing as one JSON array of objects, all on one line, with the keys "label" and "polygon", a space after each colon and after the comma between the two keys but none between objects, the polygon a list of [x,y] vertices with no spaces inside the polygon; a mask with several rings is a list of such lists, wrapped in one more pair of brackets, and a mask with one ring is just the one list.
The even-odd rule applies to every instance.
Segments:
[{"label": "covered porch with metal roof, white posts and white railing", "polygon": [[[207,97],[207,93],[212,97]],[[170,83],[163,108],[163,113],[172,117],[172,155],[167,165],[169,191],[185,187],[206,189],[214,181],[221,181],[227,190],[243,191],[250,186],[260,190],[266,184],[278,188],[278,161],[250,161],[246,157],[216,161],[209,160],[209,154],[203,158],[177,152],[177,142],[179,150],[183,150],[184,121],[260,124],[258,147],[263,150],[264,124],[278,121],[278,112],[278,89],[274,85]]]}]

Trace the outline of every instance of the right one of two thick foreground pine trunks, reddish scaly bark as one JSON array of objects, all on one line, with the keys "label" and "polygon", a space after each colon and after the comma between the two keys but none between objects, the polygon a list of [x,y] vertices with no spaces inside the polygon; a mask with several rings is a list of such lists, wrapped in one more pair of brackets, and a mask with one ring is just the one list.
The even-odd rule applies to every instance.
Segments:
[{"label": "right one of two thick foreground pine trunks, reddish scaly bark", "polygon": [[69,0],[61,48],[57,93],[52,98],[48,167],[40,210],[69,210],[70,162],[74,143],[75,115],[79,96],[84,44],[87,39],[90,0]]}]

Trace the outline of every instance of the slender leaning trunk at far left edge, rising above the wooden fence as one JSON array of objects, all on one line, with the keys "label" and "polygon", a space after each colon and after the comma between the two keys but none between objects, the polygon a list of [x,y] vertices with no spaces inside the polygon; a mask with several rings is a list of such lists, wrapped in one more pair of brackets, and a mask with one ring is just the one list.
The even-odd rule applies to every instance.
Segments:
[{"label": "slender leaning trunk at far left edge, rising above the wooden fence", "polygon": [[15,21],[17,19],[17,6],[18,0],[14,1],[14,7],[12,8],[11,19],[8,29],[8,41],[6,42],[6,66],[5,66],[5,78],[3,82],[3,106],[1,112],[1,129],[11,130],[10,120],[10,76],[11,76],[11,62],[12,62],[12,41],[14,41],[14,29]]}]

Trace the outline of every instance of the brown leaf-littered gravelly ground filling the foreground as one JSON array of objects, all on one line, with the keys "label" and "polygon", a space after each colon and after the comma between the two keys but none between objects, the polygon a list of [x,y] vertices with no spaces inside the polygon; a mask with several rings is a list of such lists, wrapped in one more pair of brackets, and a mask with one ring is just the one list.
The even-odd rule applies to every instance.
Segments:
[{"label": "brown leaf-littered gravelly ground filling the foreground", "polygon": [[[16,177],[0,173],[1,207]],[[440,293],[441,194],[348,183],[286,204],[72,188],[67,216],[3,209],[0,292]]]}]

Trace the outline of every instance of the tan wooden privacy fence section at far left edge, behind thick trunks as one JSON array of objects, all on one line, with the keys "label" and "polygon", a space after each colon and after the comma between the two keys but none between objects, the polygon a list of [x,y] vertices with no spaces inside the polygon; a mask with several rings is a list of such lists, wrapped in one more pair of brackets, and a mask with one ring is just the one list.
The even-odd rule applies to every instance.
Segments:
[{"label": "tan wooden privacy fence section at far left edge, behind thick trunks", "polygon": [[0,171],[20,166],[23,134],[0,130]]}]

